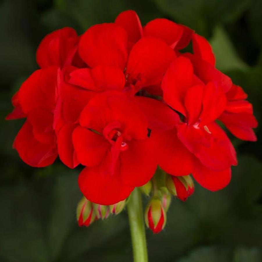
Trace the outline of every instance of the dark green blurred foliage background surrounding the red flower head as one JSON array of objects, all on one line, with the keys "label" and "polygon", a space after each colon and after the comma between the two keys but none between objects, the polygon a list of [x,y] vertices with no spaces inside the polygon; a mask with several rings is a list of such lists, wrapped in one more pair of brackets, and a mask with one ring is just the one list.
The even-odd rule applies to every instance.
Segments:
[{"label": "dark green blurred foliage background surrounding the red flower head", "polygon": [[[132,261],[126,212],[79,228],[79,170],[59,161],[28,167],[12,149],[24,120],[4,121],[11,96],[37,68],[35,51],[44,35],[63,26],[83,33],[126,9],[136,10],[143,24],[166,17],[207,37],[217,67],[248,93],[261,123],[261,0],[0,1],[0,261]],[[149,261],[262,261],[260,125],[256,133],[256,143],[230,136],[239,165],[226,189],[211,193],[196,185],[186,203],[173,199],[160,234],[147,230]]]}]

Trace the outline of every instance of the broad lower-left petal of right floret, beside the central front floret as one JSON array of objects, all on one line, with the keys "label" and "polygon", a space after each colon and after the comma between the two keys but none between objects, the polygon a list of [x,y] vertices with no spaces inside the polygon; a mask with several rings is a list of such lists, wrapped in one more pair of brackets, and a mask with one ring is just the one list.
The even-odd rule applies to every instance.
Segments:
[{"label": "broad lower-left petal of right floret, beside the central front floret", "polygon": [[168,174],[185,176],[193,170],[193,155],[177,138],[176,129],[165,132],[152,131],[155,140],[159,166]]}]

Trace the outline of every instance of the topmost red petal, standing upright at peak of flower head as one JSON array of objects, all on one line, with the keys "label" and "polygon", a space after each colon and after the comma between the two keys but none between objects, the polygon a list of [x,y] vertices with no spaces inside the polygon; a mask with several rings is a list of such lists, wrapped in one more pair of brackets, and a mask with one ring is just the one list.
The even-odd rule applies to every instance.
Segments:
[{"label": "topmost red petal, standing upright at peak of flower head", "polygon": [[140,19],[135,11],[127,10],[120,13],[115,19],[115,24],[122,26],[128,35],[128,40],[136,43],[143,34]]}]

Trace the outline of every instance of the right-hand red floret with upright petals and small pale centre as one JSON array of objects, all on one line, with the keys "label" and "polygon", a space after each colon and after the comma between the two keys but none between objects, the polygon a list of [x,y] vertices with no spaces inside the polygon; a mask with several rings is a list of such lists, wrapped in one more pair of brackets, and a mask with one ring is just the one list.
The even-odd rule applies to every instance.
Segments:
[{"label": "right-hand red floret with upright petals and small pale centre", "polygon": [[226,186],[231,177],[230,166],[236,165],[236,153],[214,122],[227,102],[222,89],[212,82],[199,83],[190,60],[183,57],[170,65],[162,88],[164,100],[183,117],[172,130],[152,132],[158,144],[160,167],[177,176],[192,173],[210,190]]}]

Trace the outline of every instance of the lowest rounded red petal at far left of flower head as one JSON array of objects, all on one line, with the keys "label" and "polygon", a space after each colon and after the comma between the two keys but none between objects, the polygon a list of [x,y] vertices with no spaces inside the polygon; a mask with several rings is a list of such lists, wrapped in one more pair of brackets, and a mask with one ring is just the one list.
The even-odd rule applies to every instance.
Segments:
[{"label": "lowest rounded red petal at far left of flower head", "polygon": [[33,167],[51,165],[57,157],[56,145],[42,144],[36,140],[28,120],[18,132],[13,147],[22,160]]}]

